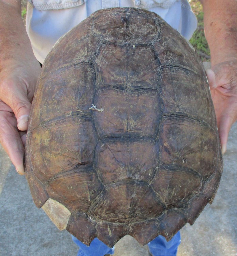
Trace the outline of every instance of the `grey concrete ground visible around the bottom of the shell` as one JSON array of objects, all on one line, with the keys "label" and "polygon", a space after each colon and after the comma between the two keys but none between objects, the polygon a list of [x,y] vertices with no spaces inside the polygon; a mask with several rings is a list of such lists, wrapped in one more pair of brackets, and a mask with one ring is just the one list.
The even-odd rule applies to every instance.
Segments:
[{"label": "grey concrete ground visible around the bottom of the shell", "polygon": [[[212,205],[193,226],[181,230],[178,256],[237,255],[237,123],[230,131],[224,171]],[[34,205],[24,176],[16,173],[0,147],[0,256],[76,256],[67,231],[59,231]],[[147,256],[130,236],[115,246],[115,256]]]}]

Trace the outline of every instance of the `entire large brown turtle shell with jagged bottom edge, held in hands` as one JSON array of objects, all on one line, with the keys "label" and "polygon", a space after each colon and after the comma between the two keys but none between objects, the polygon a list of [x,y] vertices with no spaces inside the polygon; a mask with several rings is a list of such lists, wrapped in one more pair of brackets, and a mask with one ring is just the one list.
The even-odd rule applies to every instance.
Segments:
[{"label": "entire large brown turtle shell with jagged bottom edge, held in hands", "polygon": [[129,234],[144,245],[193,224],[222,174],[194,50],[152,12],[89,16],[44,62],[25,172],[36,205],[85,244]]}]

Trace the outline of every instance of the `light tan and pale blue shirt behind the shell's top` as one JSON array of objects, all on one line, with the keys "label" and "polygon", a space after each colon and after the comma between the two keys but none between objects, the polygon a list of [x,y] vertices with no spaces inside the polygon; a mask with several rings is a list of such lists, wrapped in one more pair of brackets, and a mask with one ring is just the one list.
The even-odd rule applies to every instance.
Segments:
[{"label": "light tan and pale blue shirt behind the shell's top", "polygon": [[190,39],[197,19],[188,0],[29,0],[26,30],[34,54],[43,63],[55,42],[98,9],[144,8],[160,15],[169,25]]}]

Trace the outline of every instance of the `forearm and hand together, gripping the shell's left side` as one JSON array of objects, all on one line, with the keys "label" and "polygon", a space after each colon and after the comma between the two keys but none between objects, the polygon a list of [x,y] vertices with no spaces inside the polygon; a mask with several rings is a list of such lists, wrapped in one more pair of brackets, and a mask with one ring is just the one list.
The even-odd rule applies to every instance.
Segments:
[{"label": "forearm and hand together, gripping the shell's left side", "polygon": [[0,143],[24,174],[25,133],[40,74],[21,18],[20,0],[0,0]]}]

